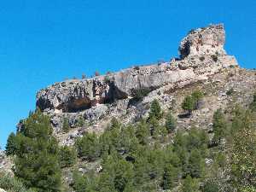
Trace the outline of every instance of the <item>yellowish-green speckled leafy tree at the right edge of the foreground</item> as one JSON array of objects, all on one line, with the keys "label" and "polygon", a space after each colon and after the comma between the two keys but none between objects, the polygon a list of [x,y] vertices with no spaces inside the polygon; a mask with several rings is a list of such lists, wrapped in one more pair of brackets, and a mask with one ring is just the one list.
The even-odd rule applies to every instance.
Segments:
[{"label": "yellowish-green speckled leafy tree at the right edge of the foreground", "polygon": [[[242,117],[241,117],[242,116]],[[231,181],[237,191],[256,191],[256,118],[247,110],[240,116],[242,125],[233,135]],[[236,124],[237,125],[237,124]]]}]

